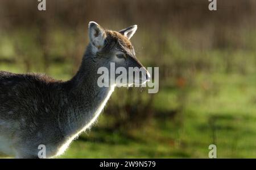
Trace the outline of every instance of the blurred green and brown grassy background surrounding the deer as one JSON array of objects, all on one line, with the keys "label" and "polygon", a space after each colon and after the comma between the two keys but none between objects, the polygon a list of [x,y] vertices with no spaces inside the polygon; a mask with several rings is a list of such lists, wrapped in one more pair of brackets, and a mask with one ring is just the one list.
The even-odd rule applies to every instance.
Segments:
[{"label": "blurred green and brown grassy background surrounding the deer", "polygon": [[256,1],[0,1],[0,70],[68,80],[88,44],[88,22],[131,38],[159,92],[119,88],[61,157],[256,157]]}]

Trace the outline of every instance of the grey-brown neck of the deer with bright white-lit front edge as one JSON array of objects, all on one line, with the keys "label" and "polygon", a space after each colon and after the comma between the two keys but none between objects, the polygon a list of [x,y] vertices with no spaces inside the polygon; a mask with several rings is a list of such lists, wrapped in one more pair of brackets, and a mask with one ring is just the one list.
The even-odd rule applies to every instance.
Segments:
[{"label": "grey-brown neck of the deer with bright white-lit front edge", "polygon": [[100,88],[97,79],[99,66],[93,61],[92,53],[86,52],[77,74],[69,81],[71,90],[68,94],[68,106],[64,134],[77,136],[90,127],[100,115],[109,97],[114,91],[114,85]]}]

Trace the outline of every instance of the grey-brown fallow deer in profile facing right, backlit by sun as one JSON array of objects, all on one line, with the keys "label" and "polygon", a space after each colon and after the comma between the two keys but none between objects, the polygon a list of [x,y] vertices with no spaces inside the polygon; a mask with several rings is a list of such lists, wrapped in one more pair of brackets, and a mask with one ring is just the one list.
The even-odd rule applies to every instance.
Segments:
[{"label": "grey-brown fallow deer in profile facing right, backlit by sun", "polygon": [[43,144],[47,158],[63,154],[96,121],[117,85],[97,85],[100,67],[115,63],[116,67],[142,68],[146,74],[134,78],[134,83],[148,81],[150,74],[130,42],[136,30],[137,25],[109,31],[89,22],[89,45],[79,71],[68,81],[0,71],[0,151],[17,158],[38,158]]}]

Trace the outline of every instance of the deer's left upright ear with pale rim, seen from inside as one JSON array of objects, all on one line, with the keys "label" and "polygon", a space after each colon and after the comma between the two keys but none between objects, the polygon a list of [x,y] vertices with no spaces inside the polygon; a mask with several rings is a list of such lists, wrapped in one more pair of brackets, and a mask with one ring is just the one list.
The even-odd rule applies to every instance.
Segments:
[{"label": "deer's left upright ear with pale rim, seen from inside", "polygon": [[96,22],[89,22],[89,38],[90,43],[92,43],[93,47],[97,50],[100,50],[104,47],[104,42],[106,39],[106,34],[103,28]]}]

